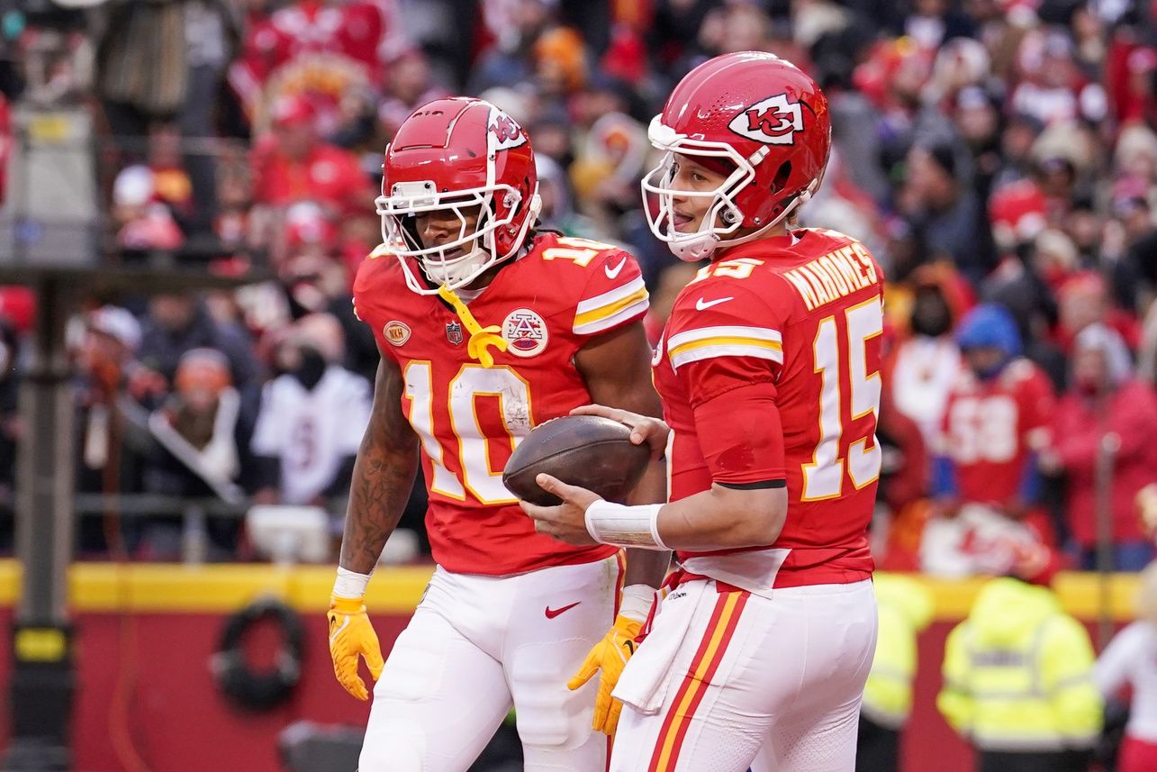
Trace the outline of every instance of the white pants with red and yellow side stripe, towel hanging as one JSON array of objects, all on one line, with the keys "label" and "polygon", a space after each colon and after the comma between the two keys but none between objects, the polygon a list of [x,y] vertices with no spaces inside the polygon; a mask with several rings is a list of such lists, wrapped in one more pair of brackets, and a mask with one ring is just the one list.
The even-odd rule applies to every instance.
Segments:
[{"label": "white pants with red and yellow side stripe, towel hanging", "polygon": [[853,772],[870,581],[771,597],[679,584],[627,663],[611,772]]}]

